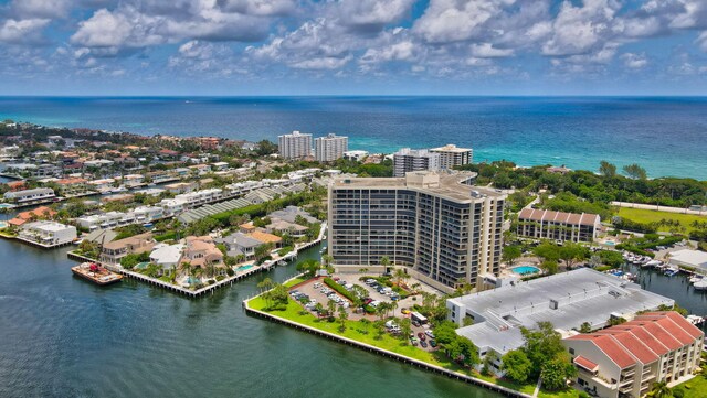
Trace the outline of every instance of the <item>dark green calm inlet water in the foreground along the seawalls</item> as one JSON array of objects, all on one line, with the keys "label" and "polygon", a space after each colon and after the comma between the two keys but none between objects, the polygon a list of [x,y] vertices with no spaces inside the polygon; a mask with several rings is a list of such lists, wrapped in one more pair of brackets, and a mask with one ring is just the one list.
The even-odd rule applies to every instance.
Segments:
[{"label": "dark green calm inlet water in the foreground along the seawalls", "polygon": [[294,265],[189,300],[91,284],[66,250],[0,239],[0,397],[498,397],[245,315]]}]

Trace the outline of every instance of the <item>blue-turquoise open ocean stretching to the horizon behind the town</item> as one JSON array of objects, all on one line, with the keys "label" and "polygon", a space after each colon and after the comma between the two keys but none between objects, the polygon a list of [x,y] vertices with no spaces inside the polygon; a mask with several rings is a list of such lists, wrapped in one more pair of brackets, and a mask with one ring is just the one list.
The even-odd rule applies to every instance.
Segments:
[{"label": "blue-turquoise open ocean stretching to the horizon behind the town", "polygon": [[475,161],[597,170],[606,160],[707,180],[707,97],[0,97],[6,118],[253,141],[336,132],[371,152],[456,143]]}]

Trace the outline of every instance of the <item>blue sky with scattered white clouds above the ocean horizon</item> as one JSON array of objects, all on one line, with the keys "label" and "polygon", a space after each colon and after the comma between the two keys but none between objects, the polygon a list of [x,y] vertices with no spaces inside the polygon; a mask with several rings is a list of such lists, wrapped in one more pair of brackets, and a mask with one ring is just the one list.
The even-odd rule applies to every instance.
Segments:
[{"label": "blue sky with scattered white clouds above the ocean horizon", "polygon": [[707,0],[0,0],[0,95],[705,95]]}]

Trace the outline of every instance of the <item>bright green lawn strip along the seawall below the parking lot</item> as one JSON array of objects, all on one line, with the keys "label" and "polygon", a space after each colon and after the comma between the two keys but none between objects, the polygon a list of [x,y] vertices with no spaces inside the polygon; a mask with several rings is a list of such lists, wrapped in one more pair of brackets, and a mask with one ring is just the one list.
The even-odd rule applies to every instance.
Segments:
[{"label": "bright green lawn strip along the seawall below the parking lot", "polygon": [[[296,283],[292,283],[292,284],[296,284]],[[535,389],[535,384],[519,385],[519,384],[514,384],[509,380],[498,379],[495,377],[484,377],[477,374],[476,372],[463,369],[458,365],[456,365],[454,362],[450,361],[443,353],[439,351],[434,353],[430,353],[430,352],[420,349],[419,347],[414,347],[410,344],[405,344],[407,341],[402,341],[397,337],[393,337],[388,333],[384,333],[380,338],[376,338],[377,332],[372,324],[368,325],[368,333],[365,333],[366,327],[363,324],[361,324],[358,321],[347,321],[346,331],[339,332],[339,323],[336,321],[327,322],[326,320],[319,320],[316,316],[312,315],[309,312],[307,312],[306,314],[300,314],[299,312],[303,310],[303,308],[292,299],[288,300],[287,308],[282,311],[266,311],[265,301],[260,295],[249,301],[249,305],[254,310],[270,312],[273,315],[284,318],[289,321],[300,323],[303,325],[307,325],[310,327],[318,329],[320,331],[325,331],[325,332],[337,334],[344,337],[356,340],[361,343],[370,344],[379,348],[388,349],[390,352],[408,356],[410,358],[414,358],[418,361],[426,362],[432,365],[441,366],[446,369],[457,372],[466,376],[477,377],[486,381],[495,383],[504,387],[519,390],[521,392],[532,395],[532,391]],[[547,396],[547,397],[560,397],[560,396]],[[568,398],[568,397],[562,396],[562,398]]]}]

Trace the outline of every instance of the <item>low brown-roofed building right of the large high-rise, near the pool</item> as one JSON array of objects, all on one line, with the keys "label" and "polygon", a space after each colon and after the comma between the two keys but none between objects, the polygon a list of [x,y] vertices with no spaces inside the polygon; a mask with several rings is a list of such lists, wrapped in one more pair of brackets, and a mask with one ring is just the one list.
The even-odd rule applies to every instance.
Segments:
[{"label": "low brown-roofed building right of the large high-rise, near the pool", "polygon": [[576,214],[526,207],[518,214],[518,235],[552,240],[592,241],[601,218],[597,214]]}]

